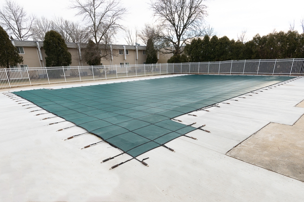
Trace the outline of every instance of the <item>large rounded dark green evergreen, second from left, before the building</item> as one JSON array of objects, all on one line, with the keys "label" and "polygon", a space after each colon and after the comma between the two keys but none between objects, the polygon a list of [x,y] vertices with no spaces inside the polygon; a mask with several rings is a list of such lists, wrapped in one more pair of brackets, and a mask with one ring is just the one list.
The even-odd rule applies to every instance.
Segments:
[{"label": "large rounded dark green evergreen, second from left, before the building", "polygon": [[62,36],[54,31],[48,31],[43,41],[43,49],[45,50],[47,67],[69,66],[72,63],[72,55],[67,50],[67,44]]}]

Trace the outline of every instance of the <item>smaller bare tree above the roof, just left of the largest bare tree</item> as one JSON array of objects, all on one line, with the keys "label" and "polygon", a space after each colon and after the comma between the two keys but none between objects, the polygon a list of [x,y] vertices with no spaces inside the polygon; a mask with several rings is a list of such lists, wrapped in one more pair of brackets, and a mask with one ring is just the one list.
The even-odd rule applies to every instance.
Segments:
[{"label": "smaller bare tree above the roof, just left of the largest bare tree", "polygon": [[145,24],[145,27],[138,34],[139,38],[147,45],[149,39],[152,39],[154,46],[160,46],[161,28],[159,26]]}]

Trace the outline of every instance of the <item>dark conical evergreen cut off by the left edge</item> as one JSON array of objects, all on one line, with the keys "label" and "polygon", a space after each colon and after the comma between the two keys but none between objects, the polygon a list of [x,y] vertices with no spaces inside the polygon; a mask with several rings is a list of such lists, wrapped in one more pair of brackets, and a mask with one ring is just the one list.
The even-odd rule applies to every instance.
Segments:
[{"label": "dark conical evergreen cut off by the left edge", "polygon": [[0,66],[9,68],[9,65],[23,63],[22,56],[17,52],[17,48],[9,40],[9,35],[0,26]]}]

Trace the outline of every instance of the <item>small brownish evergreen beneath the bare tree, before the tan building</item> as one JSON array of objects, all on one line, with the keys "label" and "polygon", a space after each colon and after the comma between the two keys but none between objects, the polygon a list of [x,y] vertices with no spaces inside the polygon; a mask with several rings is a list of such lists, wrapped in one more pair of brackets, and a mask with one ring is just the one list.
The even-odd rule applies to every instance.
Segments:
[{"label": "small brownish evergreen beneath the bare tree, before the tan building", "polygon": [[89,40],[85,49],[85,54],[83,55],[83,59],[88,65],[100,65],[101,56],[98,44],[94,43],[92,40]]}]

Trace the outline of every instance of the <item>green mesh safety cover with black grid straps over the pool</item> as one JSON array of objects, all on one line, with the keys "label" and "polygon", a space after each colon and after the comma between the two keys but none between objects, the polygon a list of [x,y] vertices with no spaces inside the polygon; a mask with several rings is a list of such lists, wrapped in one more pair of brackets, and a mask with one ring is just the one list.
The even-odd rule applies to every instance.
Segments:
[{"label": "green mesh safety cover with black grid straps over the pool", "polygon": [[170,118],[291,78],[186,75],[14,94],[136,157],[196,129]]}]

